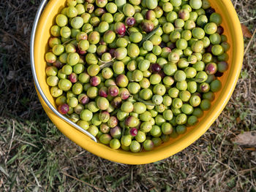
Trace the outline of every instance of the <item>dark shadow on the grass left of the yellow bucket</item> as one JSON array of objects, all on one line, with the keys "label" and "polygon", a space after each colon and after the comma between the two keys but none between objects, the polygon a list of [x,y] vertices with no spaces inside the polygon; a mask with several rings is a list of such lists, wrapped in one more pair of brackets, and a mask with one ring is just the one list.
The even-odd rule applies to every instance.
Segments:
[{"label": "dark shadow on the grass left of the yellow bucket", "polygon": [[0,116],[47,120],[31,75],[29,42],[40,1],[1,1]]}]

